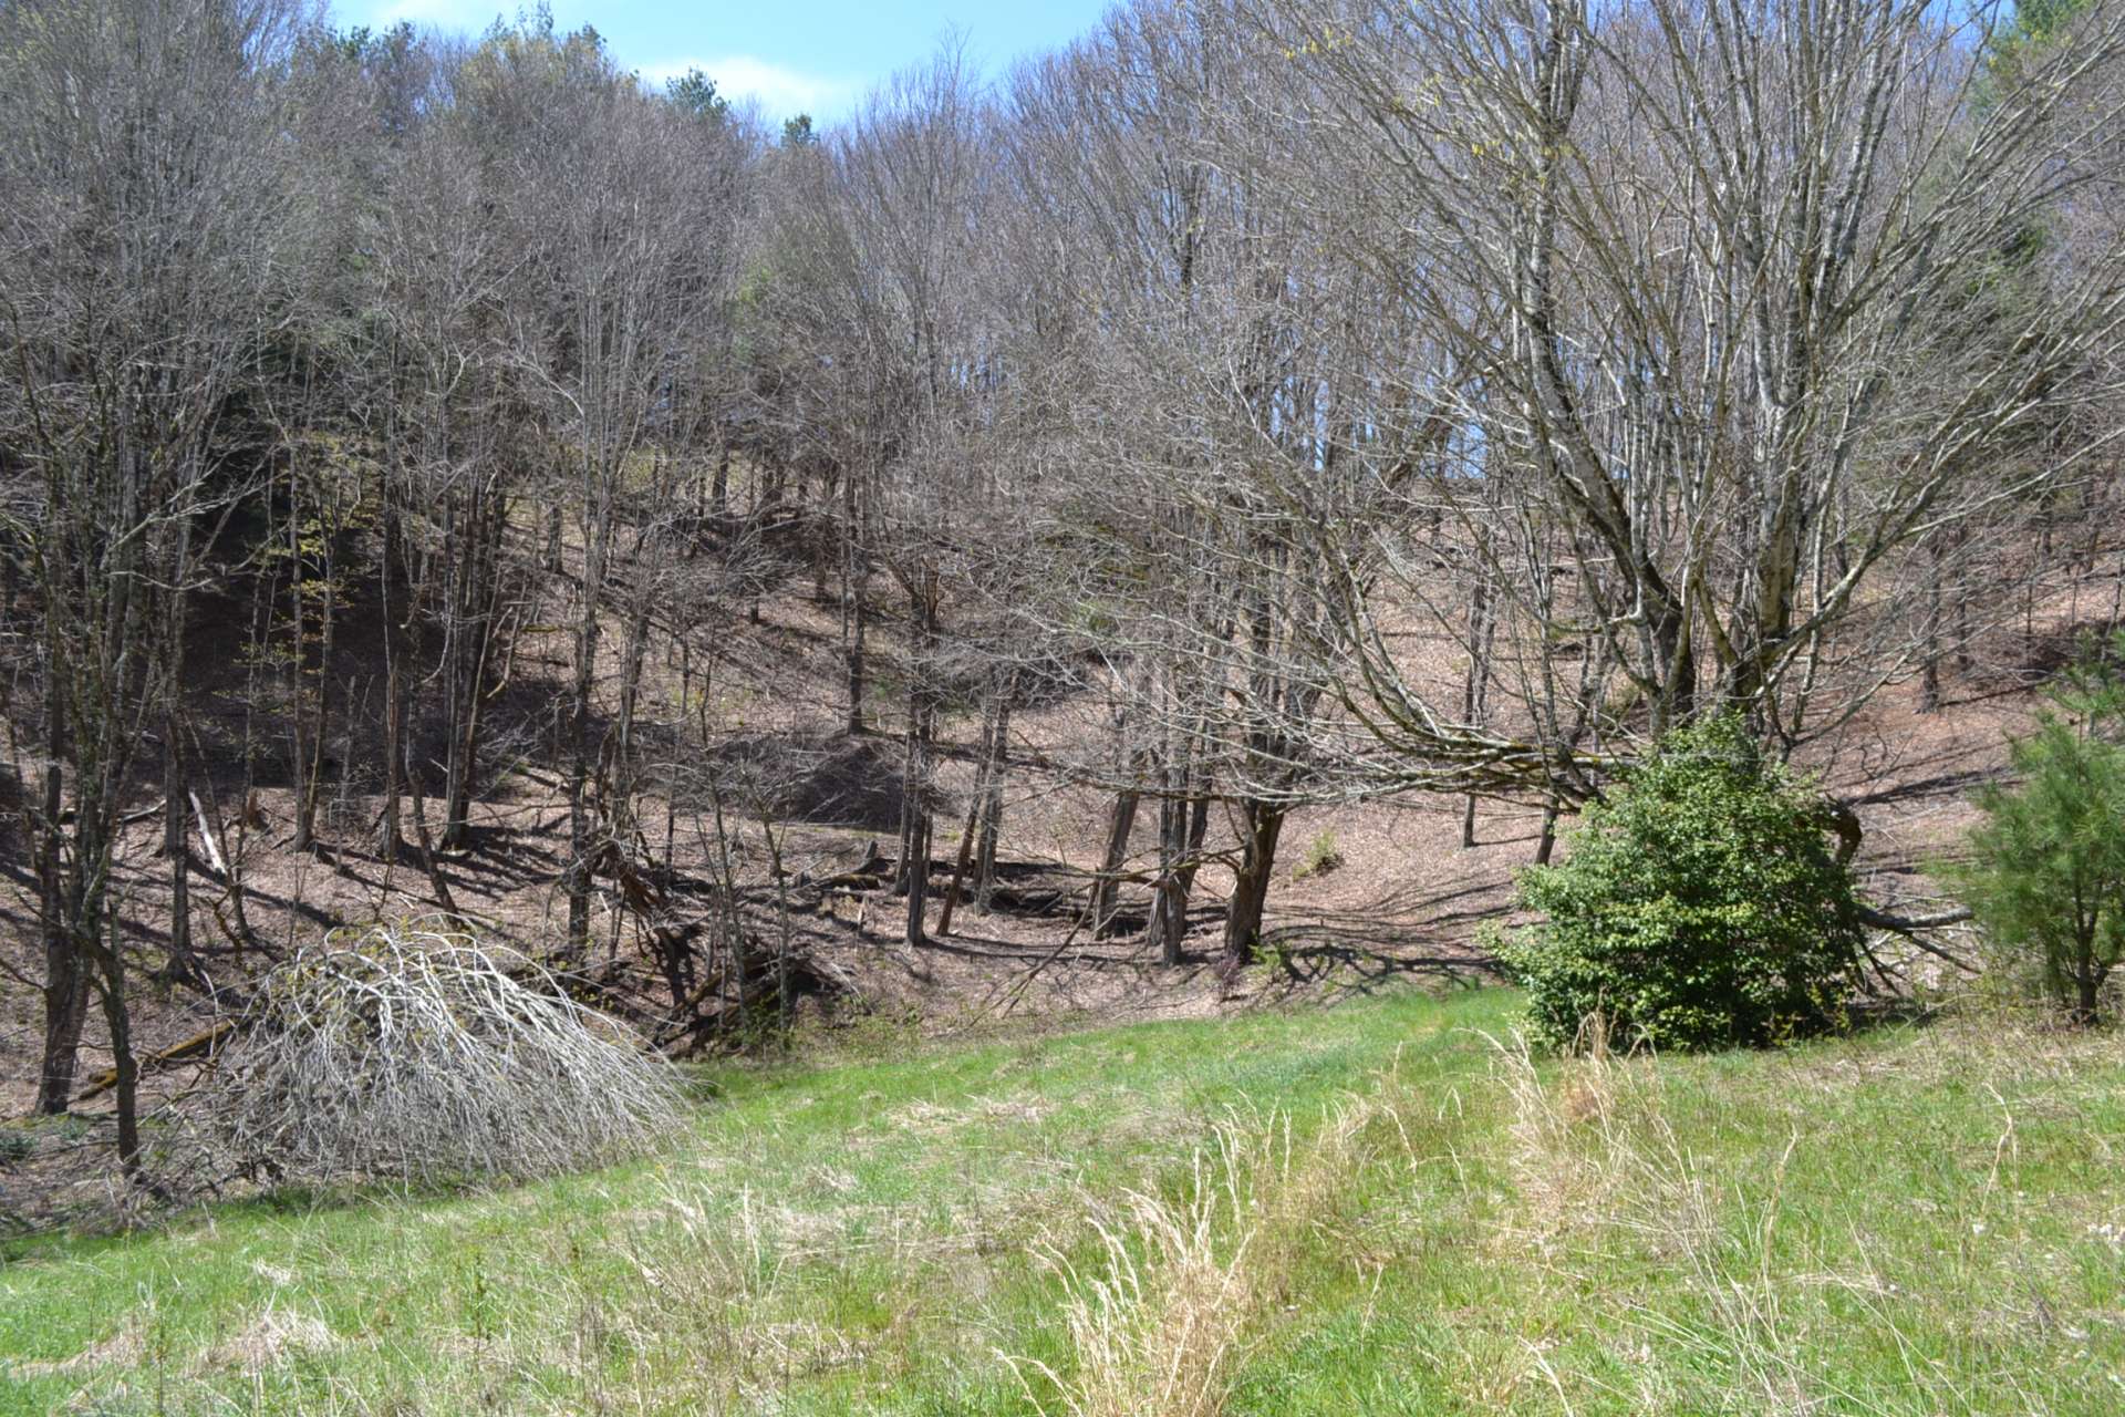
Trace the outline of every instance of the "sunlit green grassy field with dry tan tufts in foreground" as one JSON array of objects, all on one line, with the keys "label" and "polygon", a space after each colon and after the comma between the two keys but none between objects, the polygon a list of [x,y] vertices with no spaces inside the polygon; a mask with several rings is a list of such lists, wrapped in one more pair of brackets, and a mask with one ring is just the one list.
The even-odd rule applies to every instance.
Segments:
[{"label": "sunlit green grassy field with dry tan tufts in foreground", "polygon": [[0,1411],[2125,1411],[2119,1035],[1513,1009],[722,1069],[597,1175],[17,1243]]}]

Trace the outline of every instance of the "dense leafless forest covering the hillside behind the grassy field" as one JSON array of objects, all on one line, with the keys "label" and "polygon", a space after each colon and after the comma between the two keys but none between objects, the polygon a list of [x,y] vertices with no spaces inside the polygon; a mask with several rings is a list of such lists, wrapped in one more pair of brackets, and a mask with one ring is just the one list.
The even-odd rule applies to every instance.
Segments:
[{"label": "dense leafless forest covering the hillside behind the grassy field", "polygon": [[1060,947],[1243,967],[1294,812],[1547,860],[1670,729],[2114,627],[2125,6],[1135,0],[814,125],[544,15],[0,0],[0,363],[21,1100],[108,1058],[132,1164],[142,998],[355,875],[693,1045],[835,986],[808,812],[920,952],[1099,795]]}]

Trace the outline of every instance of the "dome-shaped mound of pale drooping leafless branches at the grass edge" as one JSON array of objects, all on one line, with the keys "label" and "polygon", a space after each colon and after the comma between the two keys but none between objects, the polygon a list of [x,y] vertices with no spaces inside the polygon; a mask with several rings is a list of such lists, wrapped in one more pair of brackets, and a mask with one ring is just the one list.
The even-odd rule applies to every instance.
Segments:
[{"label": "dome-shaped mound of pale drooping leafless branches at the grass edge", "polygon": [[669,1064],[625,1026],[512,950],[419,926],[300,950],[196,1100],[223,1156],[295,1181],[552,1175],[678,1122]]}]

